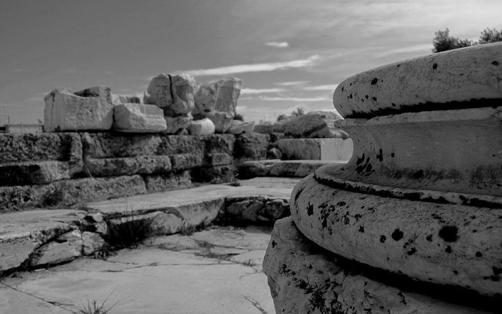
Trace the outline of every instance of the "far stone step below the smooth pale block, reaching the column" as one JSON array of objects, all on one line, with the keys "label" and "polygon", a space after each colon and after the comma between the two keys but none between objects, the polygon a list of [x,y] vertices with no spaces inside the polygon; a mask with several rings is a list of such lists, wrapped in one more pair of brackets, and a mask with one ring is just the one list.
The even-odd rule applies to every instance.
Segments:
[{"label": "far stone step below the smooth pale block, reaching the column", "polygon": [[303,178],[327,164],[345,165],[346,160],[253,160],[239,167],[239,178],[296,177]]}]

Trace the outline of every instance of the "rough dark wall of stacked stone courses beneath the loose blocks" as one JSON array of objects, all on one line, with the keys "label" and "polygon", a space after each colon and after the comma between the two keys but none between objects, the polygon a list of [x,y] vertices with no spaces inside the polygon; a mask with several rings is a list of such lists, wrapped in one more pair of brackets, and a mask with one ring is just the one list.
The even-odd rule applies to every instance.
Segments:
[{"label": "rough dark wall of stacked stone courses beneath the loose blocks", "polygon": [[234,164],[266,159],[269,140],[253,133],[1,134],[0,212],[232,182]]}]

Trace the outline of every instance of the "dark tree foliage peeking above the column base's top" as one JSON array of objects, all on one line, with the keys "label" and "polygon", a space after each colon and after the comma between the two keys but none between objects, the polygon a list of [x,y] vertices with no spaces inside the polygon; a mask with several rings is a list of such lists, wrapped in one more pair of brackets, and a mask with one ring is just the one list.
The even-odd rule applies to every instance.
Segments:
[{"label": "dark tree foliage peeking above the column base's top", "polygon": [[432,45],[434,48],[432,52],[447,51],[462,47],[470,47],[475,45],[496,43],[502,41],[502,30],[497,31],[496,29],[485,29],[481,32],[479,36],[479,41],[472,41],[468,39],[460,39],[457,37],[450,36],[450,30],[446,29],[444,31],[437,31],[434,33],[434,38],[432,39]]}]

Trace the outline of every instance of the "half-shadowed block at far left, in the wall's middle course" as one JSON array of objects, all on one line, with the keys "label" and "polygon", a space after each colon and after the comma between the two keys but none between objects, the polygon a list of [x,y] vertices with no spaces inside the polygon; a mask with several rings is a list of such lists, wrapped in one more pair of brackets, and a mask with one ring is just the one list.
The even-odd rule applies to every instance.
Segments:
[{"label": "half-shadowed block at far left, in the wall's middle course", "polygon": [[0,185],[46,184],[70,178],[68,162],[35,161],[0,164]]}]

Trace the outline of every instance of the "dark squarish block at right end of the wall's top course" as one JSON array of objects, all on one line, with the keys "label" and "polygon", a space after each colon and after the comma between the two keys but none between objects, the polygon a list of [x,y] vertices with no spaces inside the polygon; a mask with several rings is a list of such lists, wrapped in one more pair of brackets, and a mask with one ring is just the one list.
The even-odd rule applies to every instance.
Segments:
[{"label": "dark squarish block at right end of the wall's top course", "polygon": [[235,137],[233,156],[241,160],[267,159],[270,135],[244,133]]}]

